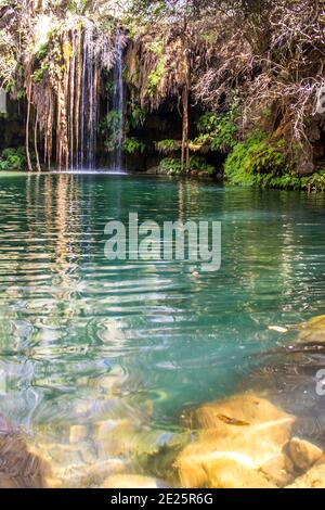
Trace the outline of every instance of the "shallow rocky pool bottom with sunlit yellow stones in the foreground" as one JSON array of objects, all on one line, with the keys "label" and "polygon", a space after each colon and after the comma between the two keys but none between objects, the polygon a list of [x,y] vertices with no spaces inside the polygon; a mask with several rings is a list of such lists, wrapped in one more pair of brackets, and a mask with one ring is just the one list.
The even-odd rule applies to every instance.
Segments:
[{"label": "shallow rocky pool bottom with sunlit yellow stones in the foreground", "polygon": [[[126,406],[116,420],[66,428],[62,443],[2,417],[0,487],[325,488],[325,316],[297,330],[239,393],[183,409],[174,431],[150,428],[146,401],[139,416]],[[106,381],[109,401],[117,381]]]}]

